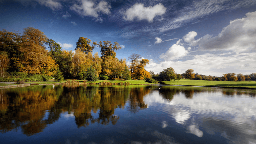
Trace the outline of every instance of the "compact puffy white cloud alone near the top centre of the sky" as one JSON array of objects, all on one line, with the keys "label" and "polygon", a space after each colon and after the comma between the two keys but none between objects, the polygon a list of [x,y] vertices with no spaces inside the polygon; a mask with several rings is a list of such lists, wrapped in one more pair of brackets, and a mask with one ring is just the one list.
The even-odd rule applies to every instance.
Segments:
[{"label": "compact puffy white cloud alone near the top centre of the sky", "polygon": [[161,16],[165,14],[166,8],[160,3],[157,5],[144,7],[144,4],[136,3],[131,8],[125,11],[124,19],[132,21],[134,19],[138,20],[148,20],[148,22],[153,22],[155,16]]}]

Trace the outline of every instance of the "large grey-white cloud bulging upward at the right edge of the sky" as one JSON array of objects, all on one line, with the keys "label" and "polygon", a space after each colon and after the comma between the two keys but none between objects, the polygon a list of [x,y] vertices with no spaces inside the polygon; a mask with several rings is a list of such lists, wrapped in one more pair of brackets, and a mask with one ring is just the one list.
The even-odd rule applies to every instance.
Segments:
[{"label": "large grey-white cloud bulging upward at the right edge of the sky", "polygon": [[[256,11],[247,13],[245,18],[230,21],[216,37],[204,35],[204,37],[193,40],[196,32],[189,32],[190,38],[187,42],[199,45],[202,50],[232,50],[236,53],[245,52],[256,48]],[[185,41],[185,39],[184,39]],[[192,42],[191,42],[192,41]]]}]

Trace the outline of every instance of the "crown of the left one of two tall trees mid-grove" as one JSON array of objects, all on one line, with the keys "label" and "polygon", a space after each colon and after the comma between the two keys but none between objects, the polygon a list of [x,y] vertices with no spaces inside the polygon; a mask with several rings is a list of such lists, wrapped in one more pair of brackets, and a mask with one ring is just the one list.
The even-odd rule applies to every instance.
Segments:
[{"label": "crown of the left one of two tall trees mid-grove", "polygon": [[93,42],[93,45],[90,45],[91,40],[84,37],[79,37],[78,42],[76,42],[76,49],[80,48],[83,53],[88,54],[89,52],[92,52],[95,48],[95,45],[97,45],[96,42]]}]

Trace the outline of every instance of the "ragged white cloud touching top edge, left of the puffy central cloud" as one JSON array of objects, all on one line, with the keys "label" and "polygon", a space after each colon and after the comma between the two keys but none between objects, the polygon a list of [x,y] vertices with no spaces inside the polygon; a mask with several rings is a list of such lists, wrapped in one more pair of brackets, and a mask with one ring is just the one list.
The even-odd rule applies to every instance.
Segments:
[{"label": "ragged white cloud touching top edge, left of the puffy central cloud", "polygon": [[79,5],[72,5],[70,10],[75,11],[80,16],[91,16],[98,18],[100,12],[102,14],[110,14],[110,8],[111,6],[106,1],[101,1],[96,4],[94,1],[90,0],[79,0]]}]

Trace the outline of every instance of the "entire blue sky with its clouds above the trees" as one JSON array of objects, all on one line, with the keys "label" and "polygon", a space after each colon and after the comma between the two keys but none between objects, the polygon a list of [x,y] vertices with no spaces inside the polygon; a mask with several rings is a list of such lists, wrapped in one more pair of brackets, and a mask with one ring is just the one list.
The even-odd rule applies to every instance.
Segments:
[{"label": "entire blue sky with its clouds above the trees", "polygon": [[155,73],[256,73],[255,0],[0,0],[0,22],[39,29],[68,51],[79,37],[118,42],[117,58],[140,54]]}]

